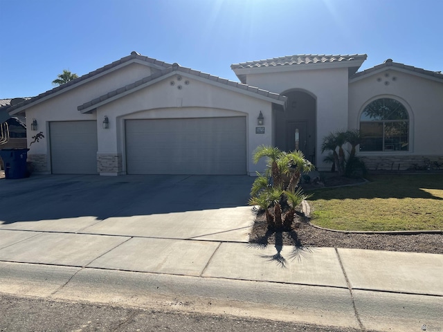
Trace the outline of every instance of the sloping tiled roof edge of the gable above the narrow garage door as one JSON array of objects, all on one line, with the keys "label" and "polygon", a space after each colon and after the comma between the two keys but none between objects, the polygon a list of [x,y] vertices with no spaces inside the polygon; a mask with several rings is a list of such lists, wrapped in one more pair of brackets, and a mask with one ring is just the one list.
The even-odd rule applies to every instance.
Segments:
[{"label": "sloping tiled roof edge of the gable above the narrow garage door", "polygon": [[44,102],[45,100],[48,100],[49,98],[53,98],[56,95],[60,95],[61,93],[66,93],[67,91],[70,91],[71,89],[74,89],[75,87],[78,87],[82,84],[85,84],[87,82],[91,82],[91,80],[95,80],[98,77],[101,77],[102,75],[106,75],[107,73],[111,73],[112,71],[116,71],[119,68],[122,68],[124,66],[128,66],[129,64],[143,64],[145,66],[150,66],[154,71],[161,71],[164,68],[168,68],[172,66],[172,64],[168,64],[166,62],[159,61],[157,59],[153,59],[151,57],[145,57],[141,55],[140,53],[137,53],[136,51],[132,51],[130,55],[127,57],[122,57],[121,59],[118,59],[117,61],[112,62],[111,64],[107,64],[106,66],[102,66],[95,71],[91,71],[90,73],[87,73],[85,75],[82,75],[78,77],[75,80],[69,81],[65,84],[62,84],[60,86],[55,87],[54,89],[48,90],[44,93],[40,93],[39,95],[30,98],[29,100],[26,100],[24,102],[20,102],[17,105],[14,105],[8,109],[11,116],[24,111],[24,109],[31,107],[35,104],[38,104],[39,102]]}]

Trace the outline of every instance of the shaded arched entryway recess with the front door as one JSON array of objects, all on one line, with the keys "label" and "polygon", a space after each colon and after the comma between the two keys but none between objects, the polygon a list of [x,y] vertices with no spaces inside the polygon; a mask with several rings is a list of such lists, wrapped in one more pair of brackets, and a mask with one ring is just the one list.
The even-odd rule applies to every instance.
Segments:
[{"label": "shaded arched entryway recess with the front door", "polygon": [[287,108],[275,114],[275,145],[284,151],[299,149],[316,163],[316,98],[300,90],[282,93]]}]

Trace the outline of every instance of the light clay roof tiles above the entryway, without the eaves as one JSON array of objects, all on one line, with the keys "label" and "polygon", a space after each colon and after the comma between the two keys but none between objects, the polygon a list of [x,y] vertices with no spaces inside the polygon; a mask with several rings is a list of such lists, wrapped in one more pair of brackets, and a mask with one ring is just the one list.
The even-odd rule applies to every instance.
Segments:
[{"label": "light clay roof tiles above the entryway, without the eaves", "polygon": [[303,64],[317,64],[317,63],[330,63],[330,62],[348,62],[352,60],[365,60],[367,55],[354,54],[354,55],[313,55],[313,54],[300,54],[300,55],[288,55],[285,57],[274,57],[273,59],[265,59],[258,61],[242,62],[239,64],[231,64],[230,68],[233,70],[240,68],[260,68],[271,66],[293,66]]}]

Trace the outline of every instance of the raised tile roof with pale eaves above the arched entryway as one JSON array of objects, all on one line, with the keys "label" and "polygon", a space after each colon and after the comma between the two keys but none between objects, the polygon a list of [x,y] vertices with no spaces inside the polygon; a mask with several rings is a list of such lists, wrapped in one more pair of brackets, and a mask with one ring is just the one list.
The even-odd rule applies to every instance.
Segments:
[{"label": "raised tile roof with pale eaves above the arched entryway", "polygon": [[367,55],[289,55],[251,62],[232,64],[230,68],[243,83],[246,75],[253,73],[271,73],[281,71],[300,71],[322,68],[349,68],[349,75],[354,74],[363,64]]}]

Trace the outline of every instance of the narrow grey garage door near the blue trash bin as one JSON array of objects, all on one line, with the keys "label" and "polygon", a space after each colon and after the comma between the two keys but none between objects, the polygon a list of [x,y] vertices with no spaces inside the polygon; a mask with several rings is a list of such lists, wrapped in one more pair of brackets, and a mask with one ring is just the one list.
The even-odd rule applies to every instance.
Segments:
[{"label": "narrow grey garage door near the blue trash bin", "polygon": [[97,174],[97,122],[50,122],[53,174]]}]

